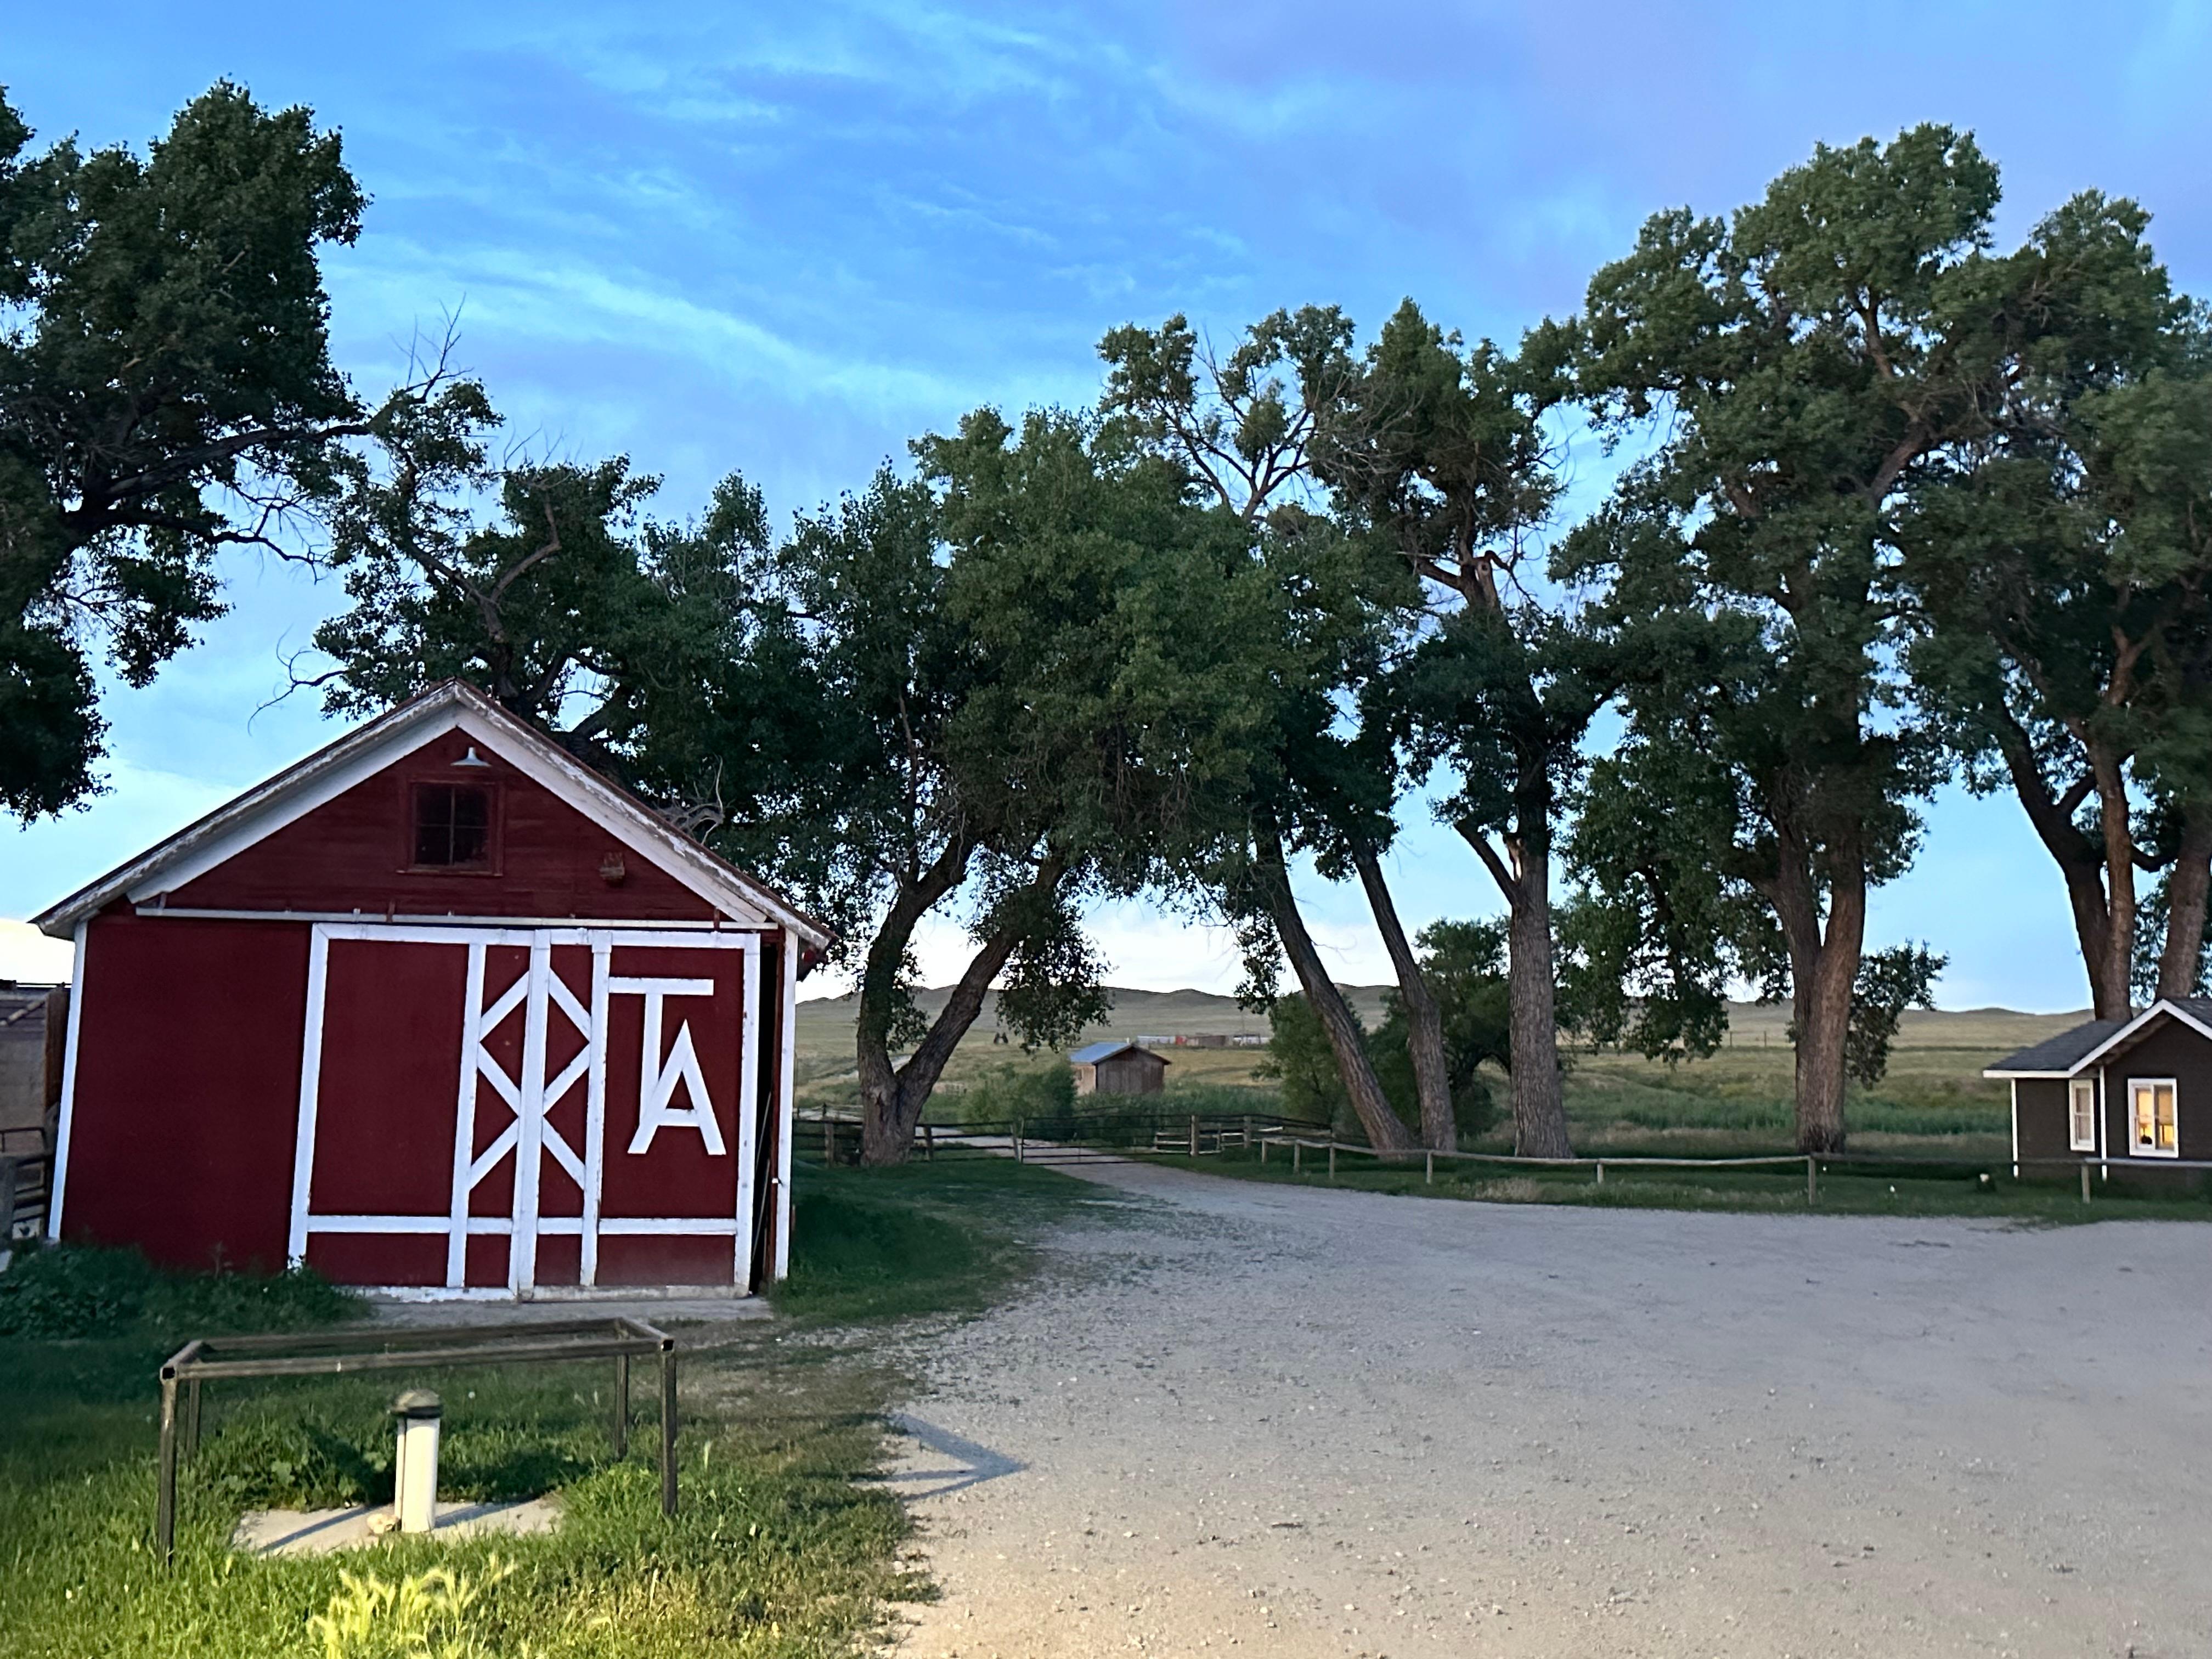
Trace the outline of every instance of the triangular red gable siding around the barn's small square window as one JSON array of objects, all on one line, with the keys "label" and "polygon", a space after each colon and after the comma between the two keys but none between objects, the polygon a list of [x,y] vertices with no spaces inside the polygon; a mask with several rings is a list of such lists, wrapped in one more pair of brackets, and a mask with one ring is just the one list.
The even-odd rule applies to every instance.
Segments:
[{"label": "triangular red gable siding around the barn's small square window", "polygon": [[[184,909],[387,909],[403,916],[595,916],[606,920],[708,920],[714,909],[646,863],[582,812],[495,754],[453,768],[469,750],[447,732],[336,801],[288,823],[168,896]],[[409,869],[416,781],[493,783],[500,792],[495,872]],[[617,856],[619,885],[599,876]]]}]

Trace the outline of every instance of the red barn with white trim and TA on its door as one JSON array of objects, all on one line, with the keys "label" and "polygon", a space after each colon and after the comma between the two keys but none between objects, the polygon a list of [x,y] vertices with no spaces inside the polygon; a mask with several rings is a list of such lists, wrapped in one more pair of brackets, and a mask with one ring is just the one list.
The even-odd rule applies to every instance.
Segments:
[{"label": "red barn with white trim and TA on its door", "polygon": [[827,931],[449,681],[38,925],[49,1232],[416,1296],[757,1290]]}]

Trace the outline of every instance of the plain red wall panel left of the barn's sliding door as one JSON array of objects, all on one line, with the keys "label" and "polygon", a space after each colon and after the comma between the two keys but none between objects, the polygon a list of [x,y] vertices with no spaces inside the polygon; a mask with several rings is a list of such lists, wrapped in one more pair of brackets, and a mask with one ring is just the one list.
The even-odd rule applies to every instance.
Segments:
[{"label": "plain red wall panel left of the barn's sliding door", "polygon": [[80,973],[64,1237],[283,1267],[307,927],[108,911]]}]

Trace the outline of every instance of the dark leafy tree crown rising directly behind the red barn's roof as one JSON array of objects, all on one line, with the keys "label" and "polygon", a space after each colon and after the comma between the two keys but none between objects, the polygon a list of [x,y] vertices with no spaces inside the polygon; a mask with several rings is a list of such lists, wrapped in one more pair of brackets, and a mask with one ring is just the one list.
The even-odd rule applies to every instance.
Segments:
[{"label": "dark leafy tree crown rising directly behind the red barn's roof", "polygon": [[334,460],[327,562],[349,604],[292,688],[367,714],[467,679],[681,830],[787,876],[774,827],[818,703],[768,593],[761,493],[732,476],[701,520],[659,524],[659,480],[628,460],[495,458],[498,427],[456,380]]}]

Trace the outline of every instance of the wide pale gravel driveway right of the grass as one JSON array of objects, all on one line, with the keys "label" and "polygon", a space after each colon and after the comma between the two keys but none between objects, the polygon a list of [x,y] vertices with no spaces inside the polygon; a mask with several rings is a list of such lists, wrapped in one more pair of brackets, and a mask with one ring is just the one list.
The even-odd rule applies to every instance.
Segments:
[{"label": "wide pale gravel driveway right of the grass", "polygon": [[909,1659],[2212,1655],[2212,1225],[1086,1175],[916,1356]]}]

